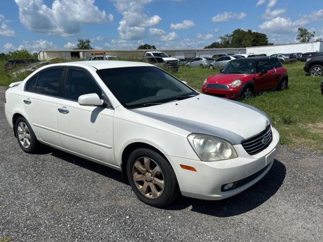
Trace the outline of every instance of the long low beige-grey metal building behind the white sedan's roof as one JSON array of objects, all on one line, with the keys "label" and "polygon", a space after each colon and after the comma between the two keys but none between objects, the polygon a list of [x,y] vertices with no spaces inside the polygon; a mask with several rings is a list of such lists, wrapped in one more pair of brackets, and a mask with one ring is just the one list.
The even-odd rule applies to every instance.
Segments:
[{"label": "long low beige-grey metal building behind the white sedan's roof", "polygon": [[[101,50],[101,49],[70,49],[70,50],[40,50],[38,59],[47,60],[51,58],[86,58],[92,52],[105,52],[106,55],[117,55],[119,57],[141,57],[146,51],[156,50]],[[168,55],[175,58],[207,57],[218,53],[245,54],[246,48],[224,48],[224,49],[161,49]]]}]

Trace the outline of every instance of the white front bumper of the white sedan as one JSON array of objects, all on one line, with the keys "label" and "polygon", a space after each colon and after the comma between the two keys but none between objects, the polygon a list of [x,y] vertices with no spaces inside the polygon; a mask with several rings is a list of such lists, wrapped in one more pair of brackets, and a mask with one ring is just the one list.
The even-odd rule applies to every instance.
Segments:
[{"label": "white front bumper of the white sedan", "polygon": [[[273,141],[270,146],[253,156],[242,145],[234,146],[238,157],[230,160],[203,162],[167,156],[175,170],[182,195],[204,200],[222,200],[257,183],[271,169],[278,153],[279,133],[274,128],[272,132]],[[180,164],[192,166],[196,172],[182,169]],[[261,172],[256,176],[252,176],[259,171]],[[241,186],[230,191],[221,190],[223,185],[241,180],[245,181]]]}]

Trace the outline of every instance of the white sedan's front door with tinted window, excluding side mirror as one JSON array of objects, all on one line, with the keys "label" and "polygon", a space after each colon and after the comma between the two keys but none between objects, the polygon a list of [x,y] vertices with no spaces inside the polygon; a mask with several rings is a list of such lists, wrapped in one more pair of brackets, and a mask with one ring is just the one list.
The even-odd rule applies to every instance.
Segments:
[{"label": "white sedan's front door with tinted window, excluding side mirror", "polygon": [[102,106],[81,106],[78,97],[89,93],[102,96],[102,90],[94,78],[86,70],[68,68],[64,81],[64,98],[59,99],[56,107],[62,147],[114,165],[114,110]]}]

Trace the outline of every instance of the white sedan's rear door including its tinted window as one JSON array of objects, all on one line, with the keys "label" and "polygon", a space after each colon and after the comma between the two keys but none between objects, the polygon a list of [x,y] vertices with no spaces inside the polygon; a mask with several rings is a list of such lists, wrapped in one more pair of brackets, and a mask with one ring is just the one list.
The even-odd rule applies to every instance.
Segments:
[{"label": "white sedan's rear door including its tinted window", "polygon": [[23,97],[26,118],[38,140],[61,146],[56,119],[56,105],[61,93],[63,68],[49,68],[26,82]]}]

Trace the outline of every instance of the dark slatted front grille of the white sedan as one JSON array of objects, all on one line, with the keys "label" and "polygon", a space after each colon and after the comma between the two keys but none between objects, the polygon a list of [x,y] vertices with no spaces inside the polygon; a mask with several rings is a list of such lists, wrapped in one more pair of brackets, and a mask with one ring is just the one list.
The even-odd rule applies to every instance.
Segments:
[{"label": "dark slatted front grille of the white sedan", "polygon": [[268,126],[260,134],[242,141],[243,148],[249,155],[255,155],[267,148],[273,140],[272,129]]}]

